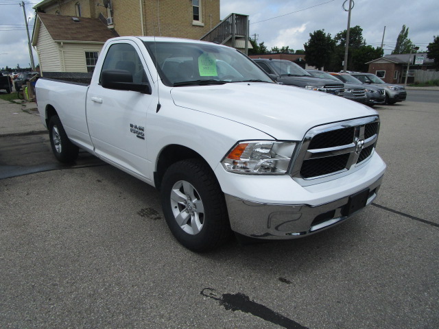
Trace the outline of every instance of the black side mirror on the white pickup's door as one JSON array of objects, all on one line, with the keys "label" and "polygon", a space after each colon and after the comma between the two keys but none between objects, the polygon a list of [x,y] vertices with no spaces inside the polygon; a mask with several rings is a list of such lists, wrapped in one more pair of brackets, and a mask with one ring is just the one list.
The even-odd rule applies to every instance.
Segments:
[{"label": "black side mirror on the white pickup's door", "polygon": [[132,74],[126,70],[102,71],[101,85],[108,89],[132,90],[143,94],[151,94],[151,88],[148,84],[134,84]]}]

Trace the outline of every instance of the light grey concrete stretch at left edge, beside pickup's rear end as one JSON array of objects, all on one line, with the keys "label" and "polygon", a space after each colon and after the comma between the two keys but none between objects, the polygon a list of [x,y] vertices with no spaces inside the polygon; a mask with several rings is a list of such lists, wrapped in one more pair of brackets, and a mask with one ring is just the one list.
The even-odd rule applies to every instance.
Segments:
[{"label": "light grey concrete stretch at left edge, beside pickup's rear end", "polygon": [[36,103],[16,104],[0,99],[0,137],[38,132],[47,130],[40,120]]}]

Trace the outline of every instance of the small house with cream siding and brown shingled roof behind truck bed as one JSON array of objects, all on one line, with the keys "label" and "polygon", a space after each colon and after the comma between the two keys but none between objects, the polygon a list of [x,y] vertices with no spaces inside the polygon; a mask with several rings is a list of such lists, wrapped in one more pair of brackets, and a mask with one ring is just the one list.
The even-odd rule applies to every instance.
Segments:
[{"label": "small house with cream siding and brown shingled roof behind truck bed", "polygon": [[118,36],[99,19],[38,12],[32,45],[40,71],[93,72],[102,45]]}]

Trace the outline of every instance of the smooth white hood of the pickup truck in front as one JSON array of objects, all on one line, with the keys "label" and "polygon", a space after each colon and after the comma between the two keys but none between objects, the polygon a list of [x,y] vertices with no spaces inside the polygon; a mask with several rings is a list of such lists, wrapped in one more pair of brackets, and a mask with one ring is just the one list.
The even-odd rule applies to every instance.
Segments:
[{"label": "smooth white hood of the pickup truck in front", "polygon": [[377,114],[340,96],[278,84],[176,87],[171,97],[176,106],[236,121],[287,141],[302,140],[316,125]]}]

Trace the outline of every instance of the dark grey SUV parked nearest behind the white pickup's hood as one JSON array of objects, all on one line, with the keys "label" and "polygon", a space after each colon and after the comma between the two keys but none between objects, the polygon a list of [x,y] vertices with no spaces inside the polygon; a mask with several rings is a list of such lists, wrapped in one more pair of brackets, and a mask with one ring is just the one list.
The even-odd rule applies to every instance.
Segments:
[{"label": "dark grey SUV parked nearest behind the white pickup's hood", "polygon": [[277,82],[290,86],[298,86],[309,90],[318,90],[337,96],[343,96],[344,84],[334,80],[313,77],[298,64],[289,60],[254,59],[261,68]]}]

